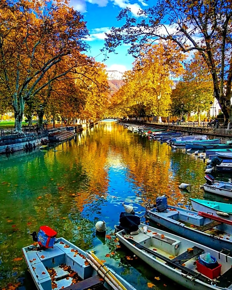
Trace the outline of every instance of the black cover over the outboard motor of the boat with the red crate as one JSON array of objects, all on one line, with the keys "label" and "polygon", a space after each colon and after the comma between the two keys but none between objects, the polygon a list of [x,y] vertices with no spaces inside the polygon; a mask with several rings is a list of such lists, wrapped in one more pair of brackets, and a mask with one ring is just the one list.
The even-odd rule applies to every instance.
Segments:
[{"label": "black cover over the outboard motor of the boat with the red crate", "polygon": [[140,217],[122,212],[120,213],[119,222],[120,224],[117,226],[118,230],[125,230],[126,233],[131,233],[139,229]]}]

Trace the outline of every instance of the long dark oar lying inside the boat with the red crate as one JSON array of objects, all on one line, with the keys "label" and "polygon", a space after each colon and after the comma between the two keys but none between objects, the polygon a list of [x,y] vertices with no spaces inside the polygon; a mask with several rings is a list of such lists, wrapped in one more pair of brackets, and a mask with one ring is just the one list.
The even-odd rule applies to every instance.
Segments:
[{"label": "long dark oar lying inside the boat with the red crate", "polygon": [[193,270],[188,269],[187,267],[184,267],[181,264],[177,263],[179,261],[176,261],[176,262],[171,261],[170,259],[166,258],[165,256],[160,255],[159,253],[156,253],[155,251],[152,251],[152,250],[146,248],[145,246],[139,244],[138,242],[136,242],[135,240],[133,240],[131,238],[128,238],[126,240],[128,242],[130,242],[131,244],[133,244],[134,246],[136,246],[138,249],[141,249],[143,251],[146,251],[147,253],[152,254],[153,256],[155,256],[155,257],[157,257],[157,258],[165,261],[166,264],[168,264],[168,266],[173,267],[173,268],[178,268],[178,269],[180,269],[182,272],[184,272],[187,275],[188,274],[192,275],[193,276],[192,279],[201,280],[201,281],[203,281],[206,284],[211,283],[211,280],[209,280],[206,277],[202,276],[200,273],[196,273]]}]

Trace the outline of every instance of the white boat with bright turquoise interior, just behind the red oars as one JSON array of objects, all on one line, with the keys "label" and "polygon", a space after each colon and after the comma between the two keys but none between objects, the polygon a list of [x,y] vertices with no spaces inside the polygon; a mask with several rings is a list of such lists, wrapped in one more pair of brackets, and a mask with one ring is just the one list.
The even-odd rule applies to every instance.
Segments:
[{"label": "white boat with bright turquoise interior, just behind the red oars", "polygon": [[209,213],[213,216],[232,221],[232,204],[197,198],[189,199],[195,211]]}]

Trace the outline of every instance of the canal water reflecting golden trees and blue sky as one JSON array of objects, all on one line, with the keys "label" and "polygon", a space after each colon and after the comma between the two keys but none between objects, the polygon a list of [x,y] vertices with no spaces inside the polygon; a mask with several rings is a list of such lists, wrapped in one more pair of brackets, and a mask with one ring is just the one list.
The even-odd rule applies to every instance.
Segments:
[{"label": "canal water reflecting golden trees and blue sky", "polygon": [[[138,290],[180,288],[120,247],[114,225],[123,202],[145,222],[145,205],[157,196],[167,194],[170,205],[186,207],[189,197],[204,198],[202,159],[117,123],[101,123],[49,150],[1,155],[0,164],[0,289],[35,289],[22,247],[33,243],[30,233],[42,225],[93,250]],[[180,190],[182,182],[191,190]],[[102,220],[104,236],[95,229]]]}]

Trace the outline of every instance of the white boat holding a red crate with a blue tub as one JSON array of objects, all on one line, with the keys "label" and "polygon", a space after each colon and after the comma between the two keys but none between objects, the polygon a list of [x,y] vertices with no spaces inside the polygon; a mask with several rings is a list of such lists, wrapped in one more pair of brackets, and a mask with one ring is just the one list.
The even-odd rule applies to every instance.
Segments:
[{"label": "white boat holding a red crate with a blue tub", "polygon": [[[231,289],[232,257],[160,229],[140,224],[134,234],[120,230],[116,236],[134,255],[150,267],[187,289]],[[218,266],[209,269],[199,255],[209,253]],[[152,270],[151,270],[152,271]]]}]

